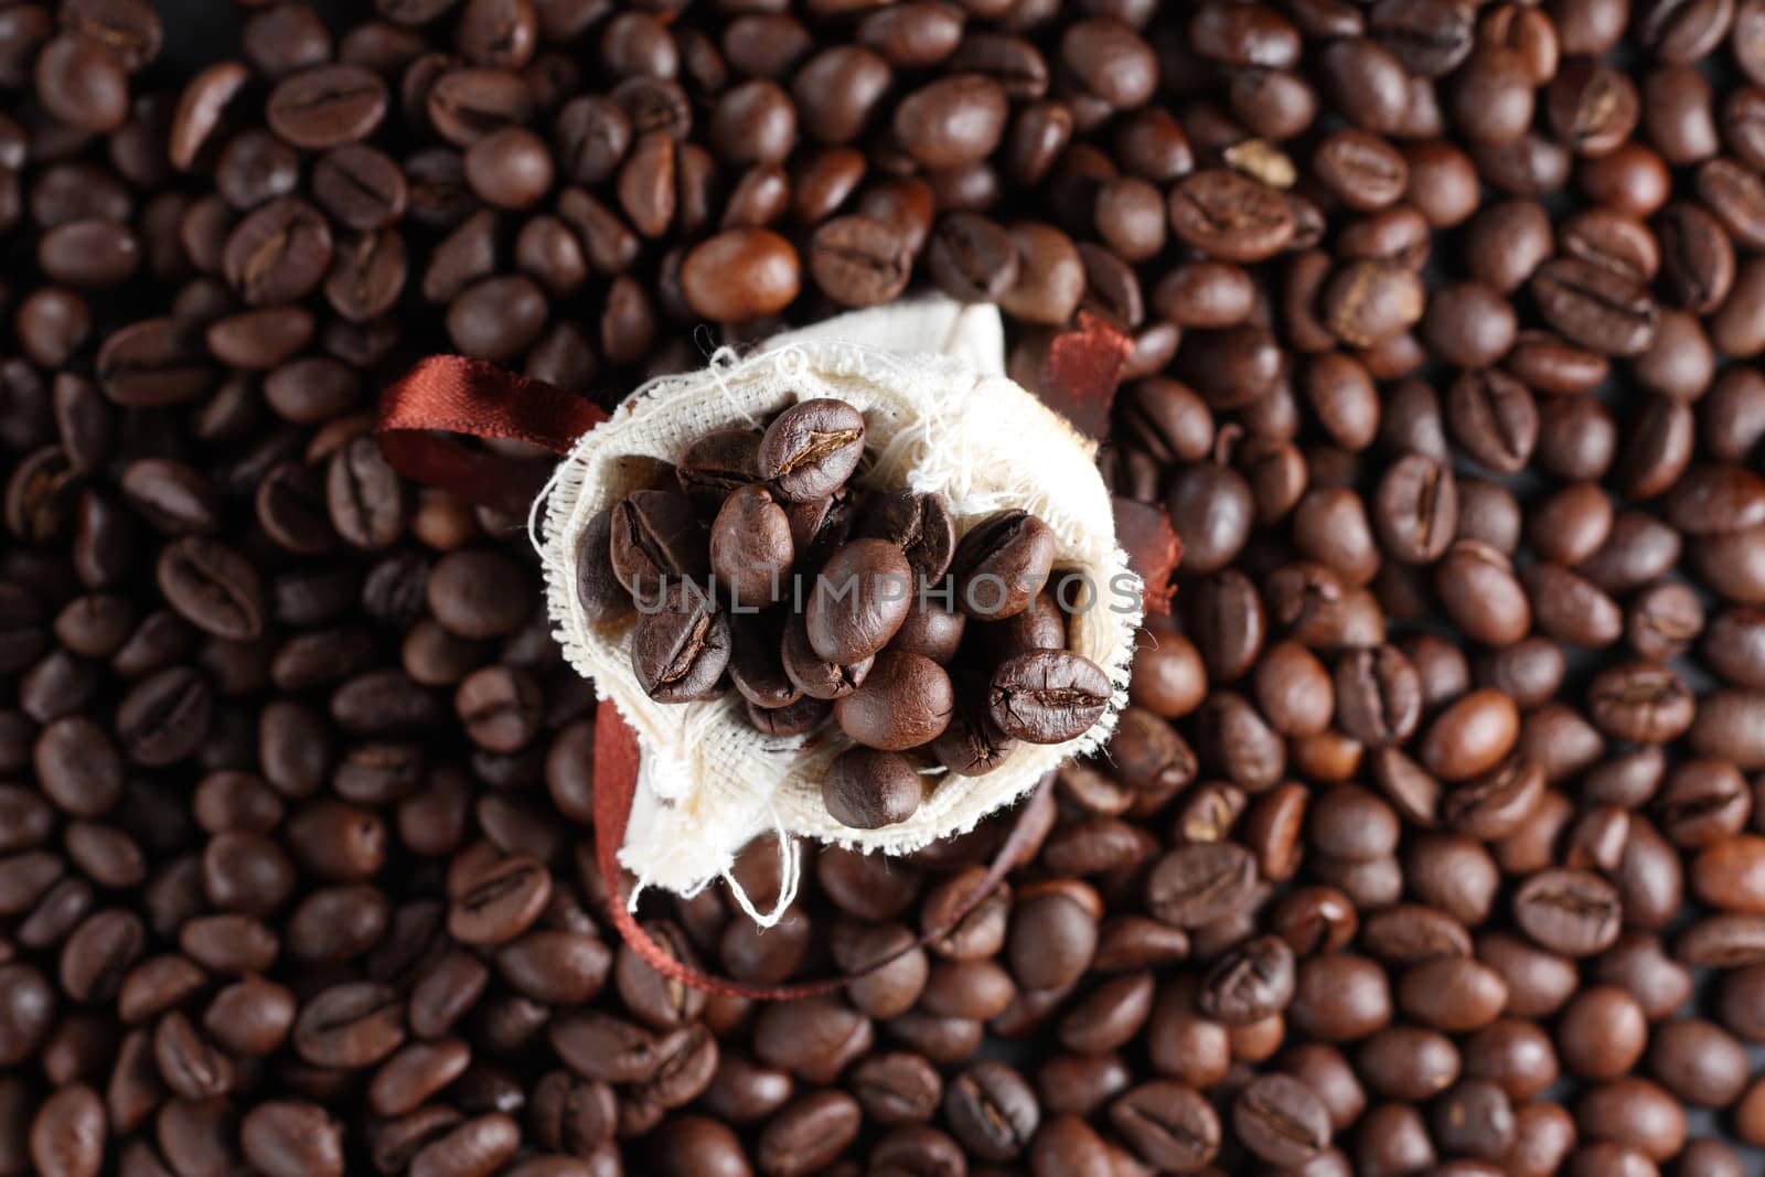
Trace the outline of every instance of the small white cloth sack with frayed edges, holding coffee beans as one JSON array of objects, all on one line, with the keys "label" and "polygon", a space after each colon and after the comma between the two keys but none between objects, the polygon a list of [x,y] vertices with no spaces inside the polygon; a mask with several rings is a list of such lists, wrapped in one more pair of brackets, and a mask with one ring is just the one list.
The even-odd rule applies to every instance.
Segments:
[{"label": "small white cloth sack with frayed edges, holding coffee beans", "polygon": [[[835,397],[865,415],[867,464],[856,480],[939,494],[960,536],[1001,508],[1038,515],[1057,538],[1054,579],[1084,574],[1089,607],[1071,621],[1070,648],[1108,671],[1115,693],[1107,715],[1063,745],[1018,745],[985,776],[928,769],[918,812],[884,829],[852,829],[821,801],[821,778],[851,741],[824,727],[810,736],[773,738],[754,731],[741,697],[688,704],[653,702],[630,663],[634,618],[593,625],[575,591],[577,549],[588,521],[635,489],[641,473],[625,459],[672,462],[701,434],[725,425],[764,424],[780,409]],[[907,854],[971,829],[981,817],[1029,792],[1068,757],[1100,746],[1126,702],[1128,662],[1140,623],[1140,581],[1115,544],[1110,494],[1094,462],[1096,443],[1080,436],[1034,395],[1004,376],[1004,332],[990,305],[948,298],[858,311],[778,335],[757,353],[731,349],[710,367],[651,381],[588,432],[558,466],[535,514],[535,540],[545,568],[545,600],[565,658],[612,699],[637,731],[642,768],[620,851],[646,886],[694,895],[727,877],[736,852],[754,836],[777,833],[785,886],[771,925],[796,891],[798,838],[860,851]],[[1084,600],[1077,593],[1068,600]]]}]

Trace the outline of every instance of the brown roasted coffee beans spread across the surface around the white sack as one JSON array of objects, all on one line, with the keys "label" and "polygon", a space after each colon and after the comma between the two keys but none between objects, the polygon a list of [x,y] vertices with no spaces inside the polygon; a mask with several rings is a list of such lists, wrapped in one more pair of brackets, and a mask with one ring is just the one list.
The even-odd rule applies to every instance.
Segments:
[{"label": "brown roasted coffee beans spread across the surface around the white sack", "polygon": [[[0,1173],[1760,1172],[1765,0],[12,0],[0,111]],[[928,288],[1131,337],[1175,614],[1036,806],[639,911],[849,972],[1025,822],[953,930],[681,986],[374,394]]]}]

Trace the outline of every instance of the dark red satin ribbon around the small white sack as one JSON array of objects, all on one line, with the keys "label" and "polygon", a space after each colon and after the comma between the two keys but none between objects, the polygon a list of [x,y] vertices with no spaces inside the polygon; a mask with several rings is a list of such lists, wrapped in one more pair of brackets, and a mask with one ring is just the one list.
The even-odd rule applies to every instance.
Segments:
[{"label": "dark red satin ribbon around the small white sack", "polygon": [[[1119,332],[1110,337],[1110,332],[1114,328],[1082,316],[1082,330],[1073,332],[1064,349],[1050,353],[1059,356],[1054,367],[1063,386],[1078,402],[1091,402],[1093,408],[1101,402],[1105,413],[1121,376],[1121,360],[1128,355],[1126,337]],[[471,503],[526,515],[552,464],[469,448],[450,434],[524,441],[552,454],[568,454],[582,434],[604,420],[607,415],[593,402],[542,379],[515,376],[484,360],[431,356],[381,394],[374,434],[387,461],[406,478]],[[967,900],[898,953],[860,972],[796,985],[747,985],[678,960],[627,909],[620,847],[625,845],[625,828],[637,792],[639,755],[637,732],[614,704],[602,702],[595,715],[595,859],[607,889],[607,916],[632,951],[662,976],[710,993],[752,1001],[789,1001],[833,992],[946,935],[1027,858],[1040,831],[1047,828],[1041,817],[1054,803],[1050,773],[1018,812],[1010,836]]]}]

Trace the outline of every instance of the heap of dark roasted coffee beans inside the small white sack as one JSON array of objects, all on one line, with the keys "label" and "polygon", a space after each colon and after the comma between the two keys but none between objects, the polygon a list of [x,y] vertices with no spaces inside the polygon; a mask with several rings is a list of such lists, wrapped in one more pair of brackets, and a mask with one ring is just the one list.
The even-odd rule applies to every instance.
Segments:
[{"label": "heap of dark roasted coffee beans inside the small white sack", "polygon": [[657,471],[678,489],[637,491],[590,521],[577,596],[597,623],[641,614],[632,671],[657,702],[732,685],[770,736],[833,716],[856,746],[833,761],[822,801],[877,829],[920,808],[923,768],[981,776],[1018,739],[1077,739],[1114,686],[1066,649],[1061,602],[1085,598],[1045,588],[1045,522],[1001,510],[958,542],[939,496],[852,482],[863,457],[863,413],[826,397],[764,432],[711,431]]}]

